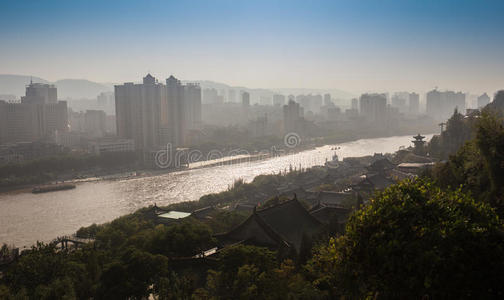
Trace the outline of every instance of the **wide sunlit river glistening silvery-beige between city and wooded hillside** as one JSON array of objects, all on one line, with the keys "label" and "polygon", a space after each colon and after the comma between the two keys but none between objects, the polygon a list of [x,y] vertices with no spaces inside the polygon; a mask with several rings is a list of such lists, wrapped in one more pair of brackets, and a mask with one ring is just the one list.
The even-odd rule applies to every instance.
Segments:
[{"label": "wide sunlit river glistening silvery-beige between city and wooded hillside", "polygon": [[[427,139],[431,136],[427,135]],[[411,145],[411,140],[411,136],[362,139],[338,144],[337,154],[342,159],[394,152],[400,146]],[[67,191],[0,194],[0,244],[30,246],[37,240],[50,241],[71,234],[81,226],[111,221],[154,203],[167,205],[198,200],[205,194],[226,190],[239,178],[250,182],[257,175],[278,173],[288,170],[289,166],[322,165],[332,158],[333,147],[150,177],[86,182]]]}]

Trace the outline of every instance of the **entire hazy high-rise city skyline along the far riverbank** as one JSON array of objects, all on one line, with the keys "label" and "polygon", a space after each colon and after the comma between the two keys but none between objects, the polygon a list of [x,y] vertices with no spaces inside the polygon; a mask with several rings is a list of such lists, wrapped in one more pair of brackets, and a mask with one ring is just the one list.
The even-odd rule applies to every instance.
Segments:
[{"label": "entire hazy high-rise city skyline along the far riverbank", "polygon": [[[0,100],[0,156],[4,160],[37,157],[16,149],[59,153],[61,147],[26,144],[53,143],[93,153],[135,151],[149,161],[168,144],[173,149],[198,144],[203,123],[245,127],[252,137],[290,132],[320,136],[336,129],[368,130],[372,136],[404,128],[423,130],[446,120],[455,109],[465,113],[466,108],[465,94],[438,90],[426,94],[423,115],[420,96],[409,92],[391,97],[366,93],[352,99],[347,107],[337,106],[330,94],[254,95],[252,104],[248,91],[202,90],[197,83],[183,84],[173,76],[161,83],[147,74],[142,83],[127,82],[116,85],[114,92],[99,94],[96,103],[70,100],[69,108],[67,101],[58,101],[54,85],[30,82],[20,101]],[[489,102],[486,93],[477,97],[479,108]]]}]

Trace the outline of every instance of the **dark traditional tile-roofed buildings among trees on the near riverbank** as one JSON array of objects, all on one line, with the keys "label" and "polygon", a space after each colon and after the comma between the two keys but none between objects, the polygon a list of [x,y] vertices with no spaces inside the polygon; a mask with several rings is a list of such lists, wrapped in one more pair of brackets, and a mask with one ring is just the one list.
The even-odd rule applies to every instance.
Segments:
[{"label": "dark traditional tile-roofed buildings among trees on the near riverbank", "polygon": [[211,222],[226,210],[249,214],[227,232],[214,235],[217,247],[174,258],[178,261],[217,259],[220,251],[237,244],[267,247],[277,250],[280,256],[302,255],[303,249],[310,248],[320,235],[343,233],[350,213],[366,204],[374,192],[431,168],[433,162],[428,157],[415,154],[417,148],[423,148],[423,138],[415,136],[414,148],[394,155],[375,153],[343,161],[335,158],[325,166],[295,172],[288,181],[247,194],[232,204],[208,206],[191,213],[154,205],[146,211],[146,217],[173,224],[186,218]]}]

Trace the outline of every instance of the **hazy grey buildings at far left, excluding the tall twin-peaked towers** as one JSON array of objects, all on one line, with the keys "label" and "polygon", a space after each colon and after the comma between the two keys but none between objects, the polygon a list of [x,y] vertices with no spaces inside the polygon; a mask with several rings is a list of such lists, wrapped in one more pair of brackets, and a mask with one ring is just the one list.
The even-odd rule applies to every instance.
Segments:
[{"label": "hazy grey buildings at far left, excluding the tall twin-peaked towers", "polygon": [[[110,93],[102,93],[98,100],[110,105]],[[51,84],[30,82],[20,101],[0,100],[1,163],[33,160],[71,150],[96,152],[95,145],[101,139],[110,142],[114,131],[114,116],[103,110],[74,112],[67,101],[58,100],[57,88]]]}]

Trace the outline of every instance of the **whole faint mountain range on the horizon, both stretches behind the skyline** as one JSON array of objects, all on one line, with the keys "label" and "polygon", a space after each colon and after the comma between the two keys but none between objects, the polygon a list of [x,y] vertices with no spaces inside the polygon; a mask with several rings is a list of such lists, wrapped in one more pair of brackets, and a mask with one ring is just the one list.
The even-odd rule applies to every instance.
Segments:
[{"label": "whole faint mountain range on the horizon, both stretches behind the skyline", "polygon": [[[0,74],[0,95],[14,95],[17,98],[25,94],[25,87],[33,82],[39,83],[50,83],[56,85],[58,88],[58,98],[59,99],[95,99],[96,96],[102,92],[113,91],[113,83],[98,83],[85,79],[62,79],[55,82],[50,82],[40,77],[26,76],[26,75],[10,75],[10,74]],[[230,86],[224,83],[218,83],[208,80],[187,80],[184,82],[197,82],[200,84],[201,88],[214,88],[217,90],[235,90],[247,91],[251,94],[252,99],[259,99],[261,97],[271,97],[275,93],[280,93],[284,95],[288,94],[324,94],[330,93],[333,98],[336,99],[350,99],[355,97],[353,94],[337,90],[337,89],[251,89],[242,86]],[[238,99],[236,99],[238,101]]]}]

